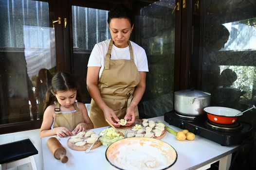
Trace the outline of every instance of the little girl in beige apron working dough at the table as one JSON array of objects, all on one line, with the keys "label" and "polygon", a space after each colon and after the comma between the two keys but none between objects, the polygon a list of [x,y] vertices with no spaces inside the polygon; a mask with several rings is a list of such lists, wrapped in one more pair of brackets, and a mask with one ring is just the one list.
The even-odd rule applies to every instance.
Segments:
[{"label": "little girl in beige apron working dough at the table", "polygon": [[75,100],[76,91],[77,85],[70,74],[55,74],[46,93],[40,137],[72,136],[93,128],[85,105]]}]

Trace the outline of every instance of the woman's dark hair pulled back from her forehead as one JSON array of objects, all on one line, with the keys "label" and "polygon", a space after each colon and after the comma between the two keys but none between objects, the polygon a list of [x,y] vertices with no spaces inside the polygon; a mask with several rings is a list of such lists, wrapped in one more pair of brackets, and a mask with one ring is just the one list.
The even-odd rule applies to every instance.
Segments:
[{"label": "woman's dark hair pulled back from her forehead", "polygon": [[127,8],[124,4],[117,4],[110,9],[108,14],[108,23],[112,18],[127,18],[130,21],[130,25],[132,26],[133,21],[133,14],[129,8]]}]

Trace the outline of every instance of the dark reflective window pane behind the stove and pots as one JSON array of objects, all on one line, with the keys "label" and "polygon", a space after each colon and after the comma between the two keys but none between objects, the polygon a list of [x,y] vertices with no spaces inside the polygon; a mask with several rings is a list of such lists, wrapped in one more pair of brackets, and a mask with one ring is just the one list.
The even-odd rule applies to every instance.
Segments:
[{"label": "dark reflective window pane behind the stove and pots", "polygon": [[212,105],[244,110],[256,102],[256,19],[249,2],[236,3],[206,1],[201,84]]}]

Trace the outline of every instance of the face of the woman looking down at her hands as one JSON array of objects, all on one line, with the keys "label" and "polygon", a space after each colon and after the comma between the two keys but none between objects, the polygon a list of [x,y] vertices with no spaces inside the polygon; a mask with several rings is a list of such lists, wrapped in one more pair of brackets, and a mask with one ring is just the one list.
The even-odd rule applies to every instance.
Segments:
[{"label": "face of the woman looking down at her hands", "polygon": [[133,26],[130,25],[127,18],[112,18],[110,20],[109,29],[116,47],[125,48],[128,46],[128,40]]}]

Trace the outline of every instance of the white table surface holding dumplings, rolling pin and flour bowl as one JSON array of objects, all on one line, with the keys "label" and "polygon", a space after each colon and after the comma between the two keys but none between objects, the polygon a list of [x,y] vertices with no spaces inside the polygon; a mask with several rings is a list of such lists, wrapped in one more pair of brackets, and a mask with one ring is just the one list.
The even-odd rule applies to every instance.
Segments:
[{"label": "white table surface holding dumplings, rolling pin and flour bowl", "polygon": [[[152,120],[164,121],[164,117],[152,118]],[[175,126],[169,126],[176,131],[181,130]],[[105,128],[97,128],[93,129],[93,131],[100,133]],[[69,158],[69,161],[63,164],[59,160],[56,160],[49,151],[46,145],[48,138],[44,137],[41,139],[44,170],[116,170],[105,157],[107,147],[100,146],[91,150],[89,153],[73,151],[66,145],[69,137],[60,139],[61,144],[67,150],[66,155]],[[232,153],[238,149],[238,146],[221,146],[201,136],[196,136],[193,141],[178,141],[175,136],[168,132],[161,140],[169,143],[178,154],[178,159],[170,167],[170,170],[206,170],[210,168],[212,163],[217,161],[219,161],[219,170],[228,170]]]}]

